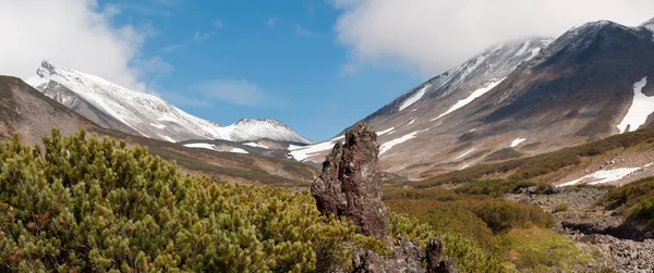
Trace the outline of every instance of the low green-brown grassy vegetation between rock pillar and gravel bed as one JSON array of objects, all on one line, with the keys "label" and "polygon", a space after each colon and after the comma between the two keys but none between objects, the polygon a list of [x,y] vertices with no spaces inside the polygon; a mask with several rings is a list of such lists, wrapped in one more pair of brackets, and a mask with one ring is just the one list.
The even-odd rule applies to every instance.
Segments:
[{"label": "low green-brown grassy vegetation between rock pillar and gravel bed", "polygon": [[[469,259],[468,272],[557,272],[592,262],[574,240],[552,231],[552,215],[535,206],[443,188],[387,185],[384,196],[391,212],[411,219],[408,222],[412,224],[404,227],[403,234],[417,240],[425,236],[415,231],[446,235],[446,253]],[[480,266],[480,260],[488,266]]]}]

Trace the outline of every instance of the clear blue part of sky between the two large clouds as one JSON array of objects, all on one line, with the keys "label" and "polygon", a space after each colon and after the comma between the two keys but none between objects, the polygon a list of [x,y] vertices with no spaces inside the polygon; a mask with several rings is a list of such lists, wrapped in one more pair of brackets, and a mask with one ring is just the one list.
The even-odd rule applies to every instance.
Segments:
[{"label": "clear blue part of sky between the two large clouds", "polygon": [[323,140],[419,85],[393,69],[346,73],[337,40],[339,11],[302,1],[100,1],[118,8],[112,24],[145,29],[146,82],[199,117],[229,125],[276,119]]}]

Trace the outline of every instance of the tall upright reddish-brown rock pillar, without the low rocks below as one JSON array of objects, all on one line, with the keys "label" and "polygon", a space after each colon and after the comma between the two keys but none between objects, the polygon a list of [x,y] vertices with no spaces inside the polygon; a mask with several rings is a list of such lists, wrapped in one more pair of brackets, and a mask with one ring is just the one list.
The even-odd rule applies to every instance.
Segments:
[{"label": "tall upright reddish-brown rock pillar, without the low rocks below", "polygon": [[346,142],[338,142],[327,156],[311,193],[322,214],[349,219],[358,233],[384,239],[388,211],[382,202],[378,154],[375,131],[358,124],[346,133]]}]

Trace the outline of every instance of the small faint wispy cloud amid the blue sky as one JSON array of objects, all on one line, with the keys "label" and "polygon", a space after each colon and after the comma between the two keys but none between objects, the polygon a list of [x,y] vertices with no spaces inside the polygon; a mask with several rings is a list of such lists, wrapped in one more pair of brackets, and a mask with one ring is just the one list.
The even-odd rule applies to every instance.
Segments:
[{"label": "small faint wispy cloud amid the blue sky", "polygon": [[228,103],[255,107],[264,102],[265,94],[256,85],[245,80],[209,80],[199,86],[206,99],[219,99]]}]

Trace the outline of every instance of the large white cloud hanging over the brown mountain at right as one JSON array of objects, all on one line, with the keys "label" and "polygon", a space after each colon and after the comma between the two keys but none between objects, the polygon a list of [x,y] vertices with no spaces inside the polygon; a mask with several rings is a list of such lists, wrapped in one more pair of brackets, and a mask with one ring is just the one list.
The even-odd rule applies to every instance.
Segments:
[{"label": "large white cloud hanging over the brown mountain at right", "polygon": [[639,25],[654,16],[652,0],[331,0],[341,11],[338,41],[350,64],[434,76],[500,42],[556,37],[572,26],[611,20]]}]

